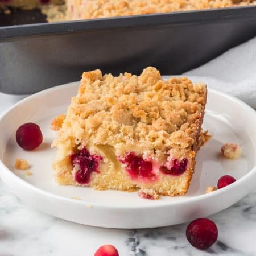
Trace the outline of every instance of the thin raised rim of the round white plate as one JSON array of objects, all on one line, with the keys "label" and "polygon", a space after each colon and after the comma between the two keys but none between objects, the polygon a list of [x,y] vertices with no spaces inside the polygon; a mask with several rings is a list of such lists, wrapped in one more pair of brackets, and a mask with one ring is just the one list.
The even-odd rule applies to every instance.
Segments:
[{"label": "thin raised rim of the round white plate", "polygon": [[[193,79],[195,79],[195,78],[199,78],[200,76],[190,76],[190,77],[193,77]],[[7,109],[5,112],[3,112],[0,116],[0,123],[2,122],[3,118],[7,117],[7,115],[9,114],[9,112],[11,112],[11,110],[17,108],[19,105],[22,105],[26,101],[30,101],[32,98],[36,98],[38,96],[42,96],[43,94],[54,92],[56,90],[59,90],[60,88],[62,89],[64,87],[72,87],[72,86],[78,86],[78,85],[79,85],[79,81],[69,82],[67,84],[55,86],[53,88],[48,88],[48,89],[42,90],[38,93],[32,94],[32,95],[24,98],[23,100],[21,100],[19,102],[16,102],[16,104],[14,104],[9,109]],[[207,89],[208,89],[209,93],[218,94],[218,96],[220,96],[220,97],[229,98],[229,100],[232,100],[232,101],[236,102],[236,104],[242,105],[248,111],[253,113],[256,117],[256,111],[253,108],[251,108],[249,105],[247,105],[245,102],[239,100],[238,98],[236,98],[234,96],[230,96],[230,95],[228,95],[226,93],[223,93],[223,92],[220,92],[218,90],[215,90],[215,89],[212,89],[212,88],[209,88],[209,87]],[[255,150],[255,148],[254,148],[254,150]],[[233,189],[234,187],[237,187],[237,186],[241,185],[241,183],[246,183],[246,181],[249,180],[251,178],[251,176],[254,176],[255,173],[256,173],[256,164],[254,165],[253,168],[251,168],[247,172],[247,174],[242,176],[235,183],[232,183],[229,186],[226,186],[222,189],[217,189],[217,191],[213,191],[212,193],[205,193],[203,195],[187,197],[183,200],[176,200],[176,201],[169,201],[169,202],[168,201],[163,201],[163,203],[152,204],[152,205],[114,205],[114,204],[102,204],[102,203],[97,203],[97,202],[94,203],[94,202],[86,201],[86,200],[76,200],[76,199],[72,199],[72,198],[69,198],[69,197],[56,195],[55,193],[52,193],[52,192],[48,192],[48,191],[46,191],[42,188],[36,187],[35,185],[29,183],[26,180],[23,180],[22,178],[20,178],[16,174],[14,174],[14,172],[11,171],[5,165],[5,163],[3,163],[2,157],[0,157],[0,169],[1,169],[0,177],[3,176],[3,175],[9,175],[9,177],[11,179],[15,179],[17,182],[20,182],[22,185],[27,186],[28,188],[30,188],[32,191],[34,191],[36,193],[40,193],[43,196],[44,195],[49,196],[52,199],[60,200],[60,201],[63,201],[63,202],[65,201],[65,202],[76,203],[76,204],[81,204],[81,205],[87,204],[87,205],[93,205],[93,207],[100,207],[100,208],[105,208],[105,209],[141,209],[141,208],[153,209],[153,208],[159,208],[159,207],[160,208],[161,207],[171,207],[171,206],[180,205],[180,204],[195,203],[197,201],[204,200],[207,197],[209,197],[209,198],[210,197],[216,197],[216,196],[220,195],[221,193],[228,192],[229,190]],[[5,172],[5,174],[3,174],[3,172]],[[6,184],[6,185],[9,186],[9,184]],[[93,188],[91,188],[91,189],[93,189]]]}]

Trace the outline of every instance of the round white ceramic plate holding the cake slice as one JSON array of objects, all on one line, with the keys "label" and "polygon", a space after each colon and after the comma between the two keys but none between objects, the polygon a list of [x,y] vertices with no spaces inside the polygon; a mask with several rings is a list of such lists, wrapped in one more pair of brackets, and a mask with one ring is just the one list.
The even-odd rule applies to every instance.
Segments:
[{"label": "round white ceramic plate holding the cake slice", "polygon": [[[174,225],[208,216],[236,203],[250,192],[256,180],[256,114],[253,109],[225,94],[208,90],[204,128],[213,138],[197,155],[196,171],[185,196],[146,200],[137,193],[96,191],[92,188],[60,186],[51,168],[56,132],[51,120],[65,113],[77,82],[36,93],[14,105],[0,119],[0,174],[15,195],[43,212],[81,224],[109,228],[152,228]],[[23,151],[15,142],[16,129],[26,122],[40,125],[44,141],[35,151]],[[240,143],[242,157],[225,159],[220,154],[225,142]],[[14,168],[16,158],[27,159],[31,176]],[[236,183],[205,194],[222,175],[236,177]],[[80,197],[81,200],[72,199]]]}]

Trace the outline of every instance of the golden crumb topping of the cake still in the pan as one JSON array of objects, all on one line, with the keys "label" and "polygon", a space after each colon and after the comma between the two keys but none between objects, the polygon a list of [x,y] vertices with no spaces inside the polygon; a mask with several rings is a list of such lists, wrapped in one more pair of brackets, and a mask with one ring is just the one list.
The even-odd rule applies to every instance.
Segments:
[{"label": "golden crumb topping of the cake still in the pan", "polygon": [[232,6],[256,5],[242,0],[66,0],[67,19],[93,19],[113,16],[168,13]]}]

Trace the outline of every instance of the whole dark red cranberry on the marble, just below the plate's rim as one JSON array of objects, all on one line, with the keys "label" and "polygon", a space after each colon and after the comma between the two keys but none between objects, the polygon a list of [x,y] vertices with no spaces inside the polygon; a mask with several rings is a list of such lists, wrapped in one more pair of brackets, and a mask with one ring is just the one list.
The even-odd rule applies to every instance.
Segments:
[{"label": "whole dark red cranberry on the marble, just below the plate's rim", "polygon": [[192,246],[204,250],[216,242],[218,238],[218,228],[215,223],[208,218],[197,218],[187,226],[186,236]]}]

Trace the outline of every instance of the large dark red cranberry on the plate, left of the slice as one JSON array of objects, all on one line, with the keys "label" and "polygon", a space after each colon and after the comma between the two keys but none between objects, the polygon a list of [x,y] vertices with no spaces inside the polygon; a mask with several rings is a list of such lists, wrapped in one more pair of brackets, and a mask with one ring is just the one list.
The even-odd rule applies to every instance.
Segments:
[{"label": "large dark red cranberry on the plate, left of the slice", "polygon": [[42,141],[43,135],[36,123],[24,123],[16,131],[16,142],[24,150],[34,150]]}]

